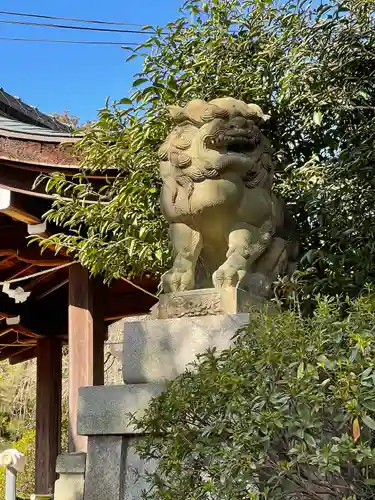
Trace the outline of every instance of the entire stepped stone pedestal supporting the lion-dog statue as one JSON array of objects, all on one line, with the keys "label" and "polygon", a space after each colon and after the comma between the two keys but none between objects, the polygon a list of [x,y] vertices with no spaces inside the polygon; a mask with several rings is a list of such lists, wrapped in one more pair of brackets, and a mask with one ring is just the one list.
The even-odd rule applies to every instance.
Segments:
[{"label": "entire stepped stone pedestal supporting the lion-dog statue", "polygon": [[156,464],[135,453],[139,436],[130,414],[144,411],[197,354],[230,347],[251,310],[262,305],[240,290],[197,290],[163,295],[153,318],[124,322],[123,342],[112,346],[122,360],[124,385],[79,392],[78,434],[88,436],[83,500],[142,498],[147,484],[137,476]]}]

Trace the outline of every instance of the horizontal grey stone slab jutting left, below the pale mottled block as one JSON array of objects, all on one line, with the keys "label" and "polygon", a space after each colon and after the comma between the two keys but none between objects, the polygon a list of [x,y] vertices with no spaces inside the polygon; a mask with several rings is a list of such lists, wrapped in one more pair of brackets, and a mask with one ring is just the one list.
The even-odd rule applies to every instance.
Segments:
[{"label": "horizontal grey stone slab jutting left, below the pale mottled block", "polygon": [[129,414],[141,414],[164,387],[164,384],[82,387],[78,397],[78,434],[134,434]]}]

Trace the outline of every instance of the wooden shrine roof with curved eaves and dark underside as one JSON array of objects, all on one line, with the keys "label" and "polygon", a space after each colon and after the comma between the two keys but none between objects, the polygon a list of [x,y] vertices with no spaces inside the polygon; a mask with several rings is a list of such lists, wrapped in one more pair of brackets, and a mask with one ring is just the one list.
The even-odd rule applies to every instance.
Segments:
[{"label": "wooden shrine roof with curved eaves and dark underside", "polygon": [[[71,257],[55,255],[53,249],[41,254],[37,244],[29,245],[28,225],[41,223],[51,203],[51,196],[42,187],[32,189],[39,173],[60,171],[69,176],[78,171],[72,141],[69,133],[0,116],[0,193],[11,191],[9,203],[0,205],[0,282],[52,270],[11,286],[31,292],[23,303],[1,292],[0,285],[0,360],[9,359],[12,364],[33,358],[41,336],[68,338],[69,267],[53,268],[69,263]],[[96,181],[100,180],[96,176]],[[56,230],[46,228],[49,233]],[[134,282],[150,292],[156,290],[151,278]],[[104,289],[103,301],[107,324],[147,313],[156,302],[123,280]]]}]

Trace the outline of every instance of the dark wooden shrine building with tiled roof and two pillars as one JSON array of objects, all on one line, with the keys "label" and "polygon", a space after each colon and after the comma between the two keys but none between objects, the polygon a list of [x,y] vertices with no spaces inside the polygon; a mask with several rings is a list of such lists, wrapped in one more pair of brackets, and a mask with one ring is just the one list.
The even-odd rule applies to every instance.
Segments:
[{"label": "dark wooden shrine building with tiled roof and two pillars", "polygon": [[[78,172],[68,126],[0,89],[0,360],[37,360],[35,492],[53,491],[61,442],[62,346],[69,345],[69,451],[85,451],[77,435],[78,388],[104,383],[107,327],[124,316],[147,313],[153,297],[119,280],[111,286],[89,273],[72,257],[54,249],[41,253],[30,234],[61,232],[43,224],[52,197],[40,173]],[[95,181],[101,182],[100,176]],[[41,271],[47,271],[40,274]],[[19,278],[29,277],[20,282]],[[4,282],[12,282],[10,290]],[[151,278],[134,283],[150,292]],[[14,289],[22,287],[25,301]]]}]

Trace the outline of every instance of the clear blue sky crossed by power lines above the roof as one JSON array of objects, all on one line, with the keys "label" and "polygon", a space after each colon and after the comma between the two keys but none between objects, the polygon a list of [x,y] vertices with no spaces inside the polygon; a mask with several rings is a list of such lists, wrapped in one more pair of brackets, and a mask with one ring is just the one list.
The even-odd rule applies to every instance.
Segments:
[{"label": "clear blue sky crossed by power lines above the roof", "polygon": [[[164,25],[178,16],[181,5],[182,0],[2,0],[0,10]],[[23,20],[5,15],[0,15],[0,19]],[[59,24],[59,21],[29,21]],[[129,33],[79,32],[2,23],[0,37],[119,42],[146,39],[144,35]],[[140,67],[140,62],[125,64],[126,54],[116,46],[0,41],[0,50],[0,87],[44,112],[69,110],[82,120],[94,119],[106,97],[117,99],[127,95],[132,75]]]}]

